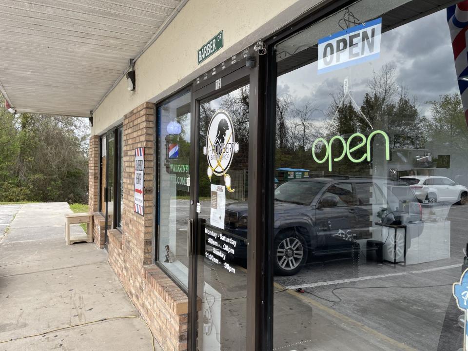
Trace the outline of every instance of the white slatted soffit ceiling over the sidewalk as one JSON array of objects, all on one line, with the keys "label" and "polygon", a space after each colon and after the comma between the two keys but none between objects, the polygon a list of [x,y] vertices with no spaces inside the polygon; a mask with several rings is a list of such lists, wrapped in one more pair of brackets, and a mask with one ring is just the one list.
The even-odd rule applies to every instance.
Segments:
[{"label": "white slatted soffit ceiling over the sidewalk", "polygon": [[23,112],[89,117],[187,0],[0,0],[0,92]]}]

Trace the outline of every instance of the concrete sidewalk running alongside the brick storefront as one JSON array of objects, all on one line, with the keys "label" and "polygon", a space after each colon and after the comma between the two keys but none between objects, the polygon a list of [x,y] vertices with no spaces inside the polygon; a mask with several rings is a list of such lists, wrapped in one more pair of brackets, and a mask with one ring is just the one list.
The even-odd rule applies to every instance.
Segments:
[{"label": "concrete sidewalk running alongside the brick storefront", "polygon": [[142,320],[116,318],[139,314],[107,253],[94,243],[65,245],[68,204],[0,206],[0,218],[15,211],[0,233],[0,351],[153,350]]}]

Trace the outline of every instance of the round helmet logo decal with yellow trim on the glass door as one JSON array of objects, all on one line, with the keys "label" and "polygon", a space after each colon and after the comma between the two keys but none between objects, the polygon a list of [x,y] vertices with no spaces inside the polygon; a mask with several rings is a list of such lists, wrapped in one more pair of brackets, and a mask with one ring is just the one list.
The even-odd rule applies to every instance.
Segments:
[{"label": "round helmet logo decal with yellow trim on the glass door", "polygon": [[239,151],[239,143],[235,141],[233,121],[224,110],[217,110],[211,118],[208,126],[206,145],[203,154],[208,159],[208,178],[213,175],[224,176],[226,189],[233,193],[231,188],[231,176],[228,175],[229,167],[234,154]]}]

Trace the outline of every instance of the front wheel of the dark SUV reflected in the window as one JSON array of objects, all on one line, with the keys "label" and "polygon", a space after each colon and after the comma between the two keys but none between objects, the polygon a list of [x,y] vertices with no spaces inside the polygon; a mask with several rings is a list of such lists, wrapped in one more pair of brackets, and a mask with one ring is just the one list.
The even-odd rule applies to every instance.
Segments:
[{"label": "front wheel of the dark SUV reflected in the window", "polygon": [[276,236],[274,252],[274,270],[278,275],[296,274],[307,261],[306,241],[294,229]]}]

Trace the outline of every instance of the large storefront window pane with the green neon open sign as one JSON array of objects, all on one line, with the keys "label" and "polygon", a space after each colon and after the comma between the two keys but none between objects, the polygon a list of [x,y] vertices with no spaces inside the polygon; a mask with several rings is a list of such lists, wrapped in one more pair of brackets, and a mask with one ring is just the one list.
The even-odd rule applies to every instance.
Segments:
[{"label": "large storefront window pane with the green neon open sign", "polygon": [[463,348],[468,3],[446,2],[358,1],[276,46],[274,350]]}]

